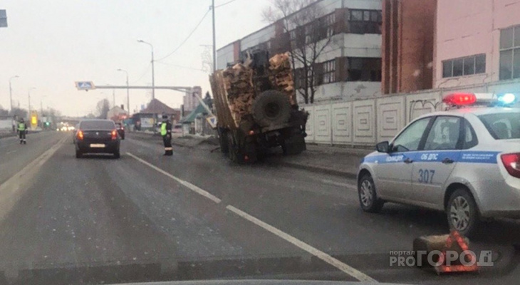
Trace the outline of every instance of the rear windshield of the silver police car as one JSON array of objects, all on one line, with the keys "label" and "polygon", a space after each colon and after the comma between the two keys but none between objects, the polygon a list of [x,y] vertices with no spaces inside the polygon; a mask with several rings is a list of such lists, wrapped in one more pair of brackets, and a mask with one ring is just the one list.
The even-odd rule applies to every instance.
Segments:
[{"label": "rear windshield of the silver police car", "polygon": [[479,115],[495,140],[520,138],[520,113]]}]

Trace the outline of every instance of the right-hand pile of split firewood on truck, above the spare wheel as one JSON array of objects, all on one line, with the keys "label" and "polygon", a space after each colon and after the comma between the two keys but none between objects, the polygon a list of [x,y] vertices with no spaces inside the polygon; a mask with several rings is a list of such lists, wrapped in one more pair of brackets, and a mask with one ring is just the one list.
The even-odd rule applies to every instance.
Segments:
[{"label": "right-hand pile of split firewood on truck, above the spare wheel", "polygon": [[269,59],[269,80],[271,84],[288,96],[291,105],[296,105],[293,71],[289,53],[279,53]]}]

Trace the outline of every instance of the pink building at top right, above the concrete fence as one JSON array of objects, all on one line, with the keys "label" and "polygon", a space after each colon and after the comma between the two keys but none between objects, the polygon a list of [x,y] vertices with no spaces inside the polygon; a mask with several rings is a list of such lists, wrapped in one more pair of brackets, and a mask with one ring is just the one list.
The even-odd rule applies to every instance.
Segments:
[{"label": "pink building at top right, above the concrete fence", "polygon": [[435,88],[520,78],[520,0],[438,0]]}]

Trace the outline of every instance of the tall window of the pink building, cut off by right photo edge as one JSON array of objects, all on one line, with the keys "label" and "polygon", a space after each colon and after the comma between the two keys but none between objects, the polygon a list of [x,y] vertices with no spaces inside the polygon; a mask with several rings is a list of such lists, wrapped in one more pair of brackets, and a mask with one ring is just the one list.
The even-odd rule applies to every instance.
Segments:
[{"label": "tall window of the pink building, cut off by right photo edge", "polygon": [[520,26],[500,31],[500,80],[520,78]]}]

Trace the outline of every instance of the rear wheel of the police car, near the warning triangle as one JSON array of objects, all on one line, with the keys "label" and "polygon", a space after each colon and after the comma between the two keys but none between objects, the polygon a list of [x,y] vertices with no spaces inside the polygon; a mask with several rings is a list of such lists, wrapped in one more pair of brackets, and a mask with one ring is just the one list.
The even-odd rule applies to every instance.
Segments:
[{"label": "rear wheel of the police car, near the warning triangle", "polygon": [[459,189],[453,192],[449,197],[447,215],[450,229],[455,229],[466,237],[476,232],[479,212],[477,203],[467,190]]}]

